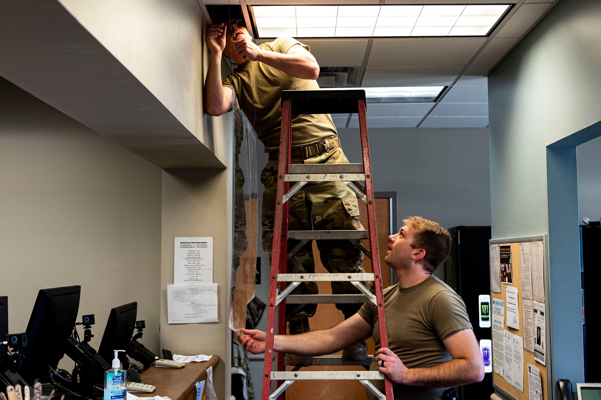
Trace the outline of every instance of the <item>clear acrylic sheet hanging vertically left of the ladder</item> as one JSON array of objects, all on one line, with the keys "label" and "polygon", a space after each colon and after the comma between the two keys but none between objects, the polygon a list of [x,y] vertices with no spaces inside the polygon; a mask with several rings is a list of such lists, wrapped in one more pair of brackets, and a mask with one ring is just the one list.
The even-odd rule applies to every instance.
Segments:
[{"label": "clear acrylic sheet hanging vertically left of the ladder", "polygon": [[230,329],[246,324],[246,305],[255,296],[257,267],[257,149],[256,135],[244,126],[242,112],[233,96],[234,112],[234,240]]}]

